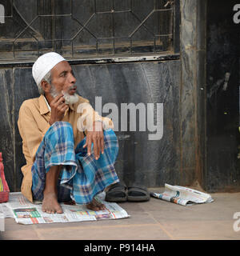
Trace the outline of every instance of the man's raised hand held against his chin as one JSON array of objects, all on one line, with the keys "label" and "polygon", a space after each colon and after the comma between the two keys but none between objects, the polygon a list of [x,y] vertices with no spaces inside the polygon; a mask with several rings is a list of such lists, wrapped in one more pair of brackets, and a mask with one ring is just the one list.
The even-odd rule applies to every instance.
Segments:
[{"label": "man's raised hand held against his chin", "polygon": [[63,98],[63,94],[58,95],[50,102],[51,107],[51,117],[50,117],[50,125],[54,122],[62,121],[64,117],[65,111],[68,106],[65,103],[65,98]]}]

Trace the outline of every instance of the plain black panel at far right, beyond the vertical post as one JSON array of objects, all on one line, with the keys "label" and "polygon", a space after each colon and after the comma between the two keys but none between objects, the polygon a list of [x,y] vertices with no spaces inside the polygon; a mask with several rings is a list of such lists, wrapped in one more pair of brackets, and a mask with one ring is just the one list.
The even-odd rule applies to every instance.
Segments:
[{"label": "plain black panel at far right, beyond the vertical post", "polygon": [[209,191],[240,186],[239,145],[239,24],[233,9],[239,1],[207,2],[207,161]]}]

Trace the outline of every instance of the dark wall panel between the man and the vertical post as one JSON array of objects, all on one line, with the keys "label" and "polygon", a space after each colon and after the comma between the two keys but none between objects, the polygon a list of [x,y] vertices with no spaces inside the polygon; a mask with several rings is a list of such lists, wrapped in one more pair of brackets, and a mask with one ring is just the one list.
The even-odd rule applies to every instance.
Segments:
[{"label": "dark wall panel between the man and the vertical post", "polygon": [[[102,106],[114,102],[163,103],[164,128],[161,140],[150,141],[150,132],[118,131],[119,157],[116,169],[130,184],[164,186],[179,184],[180,126],[179,86],[180,62],[125,63],[95,66],[74,66],[79,92],[94,106],[95,96],[102,96]],[[104,115],[104,114],[102,114]],[[106,114],[105,114],[106,115]],[[138,120],[138,119],[137,119]],[[120,129],[122,120],[119,118]],[[137,126],[138,127],[138,126]]]}]

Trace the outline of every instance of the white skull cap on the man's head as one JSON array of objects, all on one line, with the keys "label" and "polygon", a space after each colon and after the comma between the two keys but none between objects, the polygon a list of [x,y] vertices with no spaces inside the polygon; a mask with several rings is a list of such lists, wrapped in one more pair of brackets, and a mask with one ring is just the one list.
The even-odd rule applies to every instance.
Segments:
[{"label": "white skull cap on the man's head", "polygon": [[60,54],[50,52],[42,54],[32,68],[32,73],[37,85],[42,81],[42,78],[59,62],[66,61]]}]

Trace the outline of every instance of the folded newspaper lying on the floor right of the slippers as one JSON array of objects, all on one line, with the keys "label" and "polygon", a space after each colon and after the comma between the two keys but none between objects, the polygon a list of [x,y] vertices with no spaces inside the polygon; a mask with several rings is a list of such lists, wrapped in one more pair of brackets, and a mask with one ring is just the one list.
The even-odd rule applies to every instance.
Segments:
[{"label": "folded newspaper lying on the floor right of the slippers", "polygon": [[165,184],[165,191],[162,194],[151,192],[154,198],[159,198],[168,202],[174,202],[182,206],[190,206],[195,203],[213,202],[210,194],[193,190],[184,186],[171,186]]}]

